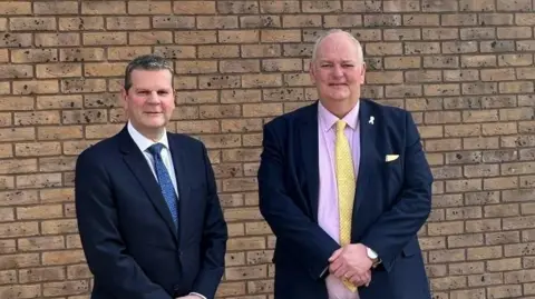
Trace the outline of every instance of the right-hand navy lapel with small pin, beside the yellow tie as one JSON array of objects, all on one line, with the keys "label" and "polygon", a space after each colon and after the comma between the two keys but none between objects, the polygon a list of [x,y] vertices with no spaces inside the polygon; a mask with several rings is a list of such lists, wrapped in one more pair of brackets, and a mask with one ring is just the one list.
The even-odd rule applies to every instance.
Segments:
[{"label": "right-hand navy lapel with small pin, beside the yellow tie", "polygon": [[[371,118],[373,117],[373,120]],[[357,192],[353,205],[352,223],[358,223],[357,213],[362,206],[362,201],[370,198],[368,189],[370,188],[370,177],[376,173],[373,161],[377,159],[376,136],[380,123],[377,123],[377,117],[372,116],[370,104],[366,100],[360,100],[359,108],[359,130],[360,130],[360,161],[357,176]],[[371,196],[371,198],[373,198]],[[357,232],[354,229],[353,232]],[[353,233],[352,233],[353,235]],[[356,235],[353,235],[356,236]]]}]

